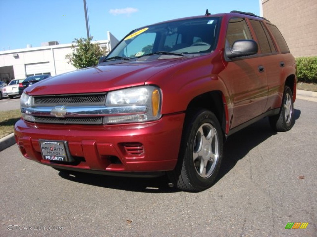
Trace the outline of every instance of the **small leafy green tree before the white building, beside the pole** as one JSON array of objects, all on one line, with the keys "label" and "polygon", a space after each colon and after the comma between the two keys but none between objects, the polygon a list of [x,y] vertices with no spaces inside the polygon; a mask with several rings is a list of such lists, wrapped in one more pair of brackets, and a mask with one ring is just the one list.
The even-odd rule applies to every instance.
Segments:
[{"label": "small leafy green tree before the white building, beside the pole", "polygon": [[97,43],[92,43],[93,36],[86,38],[75,39],[71,46],[73,52],[66,55],[69,61],[75,68],[86,68],[98,64],[98,59],[107,52],[100,48]]}]

